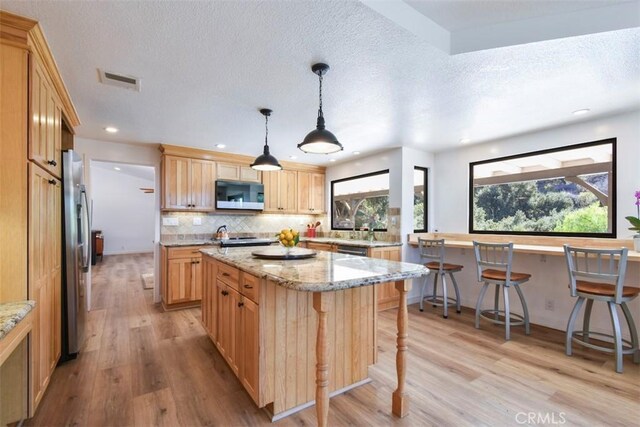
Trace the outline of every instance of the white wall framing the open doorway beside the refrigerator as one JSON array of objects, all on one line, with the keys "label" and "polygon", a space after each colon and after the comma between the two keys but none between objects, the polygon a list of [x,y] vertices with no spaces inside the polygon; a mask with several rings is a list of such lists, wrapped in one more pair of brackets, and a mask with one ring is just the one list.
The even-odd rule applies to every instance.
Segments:
[{"label": "white wall framing the open doorway beside the refrigerator", "polygon": [[[136,165],[152,166],[155,170],[155,204],[154,204],[154,240],[160,241],[160,151],[158,145],[155,144],[123,144],[96,139],[78,138],[74,140],[75,151],[78,152],[84,161],[85,183],[87,184],[87,195],[92,198],[91,193],[91,161],[105,161],[130,163]],[[154,301],[160,302],[160,264],[159,264],[159,247],[154,247],[154,264],[155,264],[155,289]],[[91,270],[87,275],[87,304],[91,309]]]}]

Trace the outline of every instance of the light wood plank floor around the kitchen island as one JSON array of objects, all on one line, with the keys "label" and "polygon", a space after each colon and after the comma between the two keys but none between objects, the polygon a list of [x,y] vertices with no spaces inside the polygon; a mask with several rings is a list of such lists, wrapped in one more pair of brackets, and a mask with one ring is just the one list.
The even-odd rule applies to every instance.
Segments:
[{"label": "light wood plank floor around the kitchen island", "polygon": [[[199,309],[165,313],[152,303],[140,278],[151,265],[150,255],[105,256],[94,269],[84,351],[56,369],[28,425],[269,424],[205,335]],[[630,358],[616,374],[612,356],[578,348],[566,357],[559,331],[534,327],[527,337],[516,327],[505,342],[498,326],[476,330],[471,310],[445,320],[427,307],[409,313],[409,416],[390,415],[396,311],[389,310],[379,320],[373,381],[331,400],[331,425],[516,426],[529,413],[546,424],[638,425],[640,368]],[[276,424],[315,425],[315,410]]]}]

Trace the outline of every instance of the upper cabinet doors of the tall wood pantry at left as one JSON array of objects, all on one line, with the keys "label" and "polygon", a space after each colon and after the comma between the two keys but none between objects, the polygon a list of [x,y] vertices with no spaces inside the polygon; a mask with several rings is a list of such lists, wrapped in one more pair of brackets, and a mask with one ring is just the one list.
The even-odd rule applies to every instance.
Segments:
[{"label": "upper cabinet doors of the tall wood pantry at left", "polygon": [[29,159],[56,177],[62,167],[62,109],[47,74],[31,57],[31,138]]}]

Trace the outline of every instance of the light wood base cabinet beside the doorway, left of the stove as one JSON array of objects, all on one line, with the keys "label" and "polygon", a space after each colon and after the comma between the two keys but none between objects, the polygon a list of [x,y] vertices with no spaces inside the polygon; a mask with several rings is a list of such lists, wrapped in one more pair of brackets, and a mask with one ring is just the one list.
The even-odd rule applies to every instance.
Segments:
[{"label": "light wood base cabinet beside the doorway, left of the stove", "polygon": [[165,310],[197,306],[202,300],[201,246],[161,250],[161,295]]}]

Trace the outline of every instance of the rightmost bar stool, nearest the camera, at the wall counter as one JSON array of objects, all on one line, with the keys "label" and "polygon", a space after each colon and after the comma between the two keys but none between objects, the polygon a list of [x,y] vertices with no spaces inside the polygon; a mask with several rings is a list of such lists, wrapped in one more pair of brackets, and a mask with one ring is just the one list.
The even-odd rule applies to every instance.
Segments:
[{"label": "rightmost bar stool, nearest the camera, at the wall counter", "polygon": [[[571,344],[575,342],[594,350],[614,353],[616,372],[618,373],[622,373],[622,356],[625,354],[633,354],[633,362],[640,363],[638,331],[633,317],[631,317],[631,311],[627,307],[627,302],[638,296],[640,288],[624,286],[627,252],[627,248],[584,249],[564,245],[569,270],[569,289],[572,297],[578,297],[567,323],[565,352],[567,356],[571,356]],[[576,318],[585,300],[587,306],[582,321],[582,330],[574,331]],[[613,335],[589,331],[591,308],[594,301],[607,303],[613,324]],[[622,338],[617,306],[622,308],[629,325],[631,342]],[[590,337],[610,340],[609,343],[613,344],[613,348],[593,344],[589,342]]]}]

